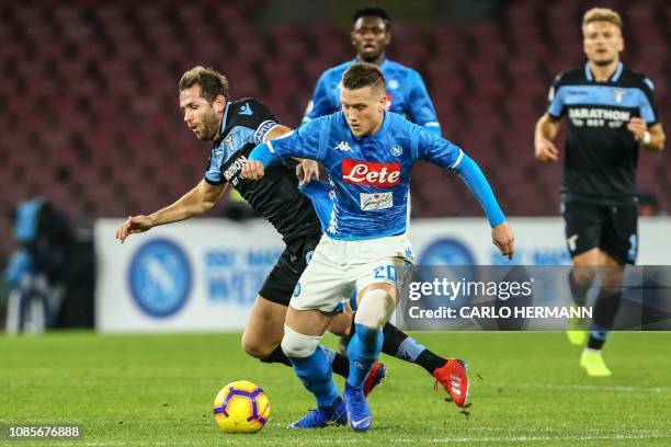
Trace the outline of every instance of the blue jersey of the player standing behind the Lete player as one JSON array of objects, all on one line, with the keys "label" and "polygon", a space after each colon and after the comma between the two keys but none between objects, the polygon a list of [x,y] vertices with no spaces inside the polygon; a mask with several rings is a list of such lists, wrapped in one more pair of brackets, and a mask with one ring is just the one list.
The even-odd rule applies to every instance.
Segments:
[{"label": "blue jersey of the player standing behind the Lete player", "polygon": [[[350,60],[321,74],[303,117],[303,124],[340,111],[342,74],[355,62],[356,60]],[[385,59],[379,68],[387,85],[387,110],[441,135],[435,108],[420,73],[389,59]]]}]

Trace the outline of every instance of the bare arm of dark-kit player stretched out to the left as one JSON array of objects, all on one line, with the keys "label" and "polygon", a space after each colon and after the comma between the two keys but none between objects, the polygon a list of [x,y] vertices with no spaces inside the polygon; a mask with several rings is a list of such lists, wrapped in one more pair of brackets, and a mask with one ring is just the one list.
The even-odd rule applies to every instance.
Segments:
[{"label": "bare arm of dark-kit player stretched out to the left", "polygon": [[193,190],[166,208],[149,216],[128,216],[126,221],[116,230],[116,239],[124,242],[130,234],[145,232],[159,225],[185,220],[208,211],[221,197],[225,188],[226,183],[213,185],[202,180]]}]

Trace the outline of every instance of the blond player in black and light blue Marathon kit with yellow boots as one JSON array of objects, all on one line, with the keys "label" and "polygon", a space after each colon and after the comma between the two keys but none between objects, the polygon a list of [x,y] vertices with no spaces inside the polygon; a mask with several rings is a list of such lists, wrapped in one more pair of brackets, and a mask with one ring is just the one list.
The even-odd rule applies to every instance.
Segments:
[{"label": "blond player in black and light blue Marathon kit with yellow boots", "polygon": [[[590,376],[610,376],[601,348],[619,307],[623,267],[636,262],[638,247],[638,148],[661,151],[664,131],[652,82],[619,61],[619,14],[602,8],[587,11],[582,35],[588,62],[555,79],[548,111],[536,124],[534,147],[538,160],[557,161],[553,140],[567,117],[561,196],[568,250],[580,267],[569,275],[576,303],[584,303],[596,274],[590,267],[601,266],[602,282],[580,367]],[[578,345],[587,339],[580,330],[568,335]]]}]

